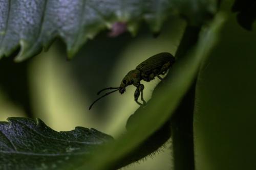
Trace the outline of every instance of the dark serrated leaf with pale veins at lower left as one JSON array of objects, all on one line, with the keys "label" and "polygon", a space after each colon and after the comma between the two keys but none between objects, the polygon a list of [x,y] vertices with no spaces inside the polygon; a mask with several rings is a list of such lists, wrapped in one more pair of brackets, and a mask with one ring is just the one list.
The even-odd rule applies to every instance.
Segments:
[{"label": "dark serrated leaf with pale veins at lower left", "polygon": [[72,169],[112,139],[95,129],[56,132],[40,119],[11,117],[0,122],[0,169]]}]

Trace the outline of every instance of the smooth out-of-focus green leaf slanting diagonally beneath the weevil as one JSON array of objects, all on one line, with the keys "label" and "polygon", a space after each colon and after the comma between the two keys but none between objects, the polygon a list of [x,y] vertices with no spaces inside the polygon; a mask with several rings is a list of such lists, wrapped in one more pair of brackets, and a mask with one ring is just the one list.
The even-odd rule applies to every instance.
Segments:
[{"label": "smooth out-of-focus green leaf slanting diagonally beneath the weevil", "polygon": [[219,14],[210,27],[203,29],[196,48],[177,61],[166,76],[167,79],[156,87],[147,106],[136,111],[137,116],[129,125],[129,130],[119,139],[99,149],[81,169],[112,169],[169,119],[197,76],[200,63],[215,45],[224,18]]}]

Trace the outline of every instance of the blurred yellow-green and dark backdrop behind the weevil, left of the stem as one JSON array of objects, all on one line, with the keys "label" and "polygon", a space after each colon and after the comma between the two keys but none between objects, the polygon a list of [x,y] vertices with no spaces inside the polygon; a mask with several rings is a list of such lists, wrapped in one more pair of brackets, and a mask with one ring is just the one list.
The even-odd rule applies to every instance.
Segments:
[{"label": "blurred yellow-green and dark backdrop behind the weevil, left of the stem", "polygon": [[[119,86],[127,72],[150,56],[161,52],[175,54],[184,26],[184,21],[172,19],[157,38],[147,26],[142,26],[137,37],[125,33],[110,38],[105,31],[87,42],[71,61],[66,60],[65,44],[60,40],[48,52],[22,63],[4,58],[0,61],[0,120],[11,116],[38,117],[56,131],[82,126],[119,136],[125,131],[127,118],[139,107],[134,102],[135,87],[127,87],[122,95],[116,92],[105,97],[89,111],[98,98],[96,93]],[[143,82],[146,101],[158,83],[158,79]],[[170,142],[153,159],[148,157],[126,169],[169,169],[169,147]]]}]

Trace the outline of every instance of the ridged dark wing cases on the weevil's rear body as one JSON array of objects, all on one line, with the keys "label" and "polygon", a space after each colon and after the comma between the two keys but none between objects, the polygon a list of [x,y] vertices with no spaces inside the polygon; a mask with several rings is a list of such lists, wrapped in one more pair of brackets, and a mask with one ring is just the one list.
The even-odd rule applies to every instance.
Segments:
[{"label": "ridged dark wing cases on the weevil's rear body", "polygon": [[160,71],[163,65],[168,62],[170,62],[170,65],[172,65],[175,62],[175,57],[169,53],[159,53],[140,63],[136,67],[136,69],[148,75],[154,72],[155,70]]}]

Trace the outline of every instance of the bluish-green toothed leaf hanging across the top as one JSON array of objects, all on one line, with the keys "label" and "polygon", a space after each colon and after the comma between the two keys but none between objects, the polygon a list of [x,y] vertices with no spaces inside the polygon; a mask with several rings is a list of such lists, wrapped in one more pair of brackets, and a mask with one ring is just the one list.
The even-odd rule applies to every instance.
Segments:
[{"label": "bluish-green toothed leaf hanging across the top", "polygon": [[42,47],[49,48],[60,37],[72,58],[84,42],[115,22],[126,23],[135,34],[144,20],[158,32],[172,13],[201,23],[215,9],[216,1],[210,0],[4,0],[0,1],[0,57],[9,56],[20,46],[15,60],[22,61],[40,53]]}]

